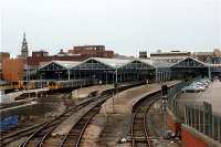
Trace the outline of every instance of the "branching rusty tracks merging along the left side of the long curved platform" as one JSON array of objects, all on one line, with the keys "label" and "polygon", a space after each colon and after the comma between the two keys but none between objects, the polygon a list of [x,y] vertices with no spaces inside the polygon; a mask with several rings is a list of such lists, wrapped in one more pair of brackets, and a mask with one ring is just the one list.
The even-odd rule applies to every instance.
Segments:
[{"label": "branching rusty tracks merging along the left side of the long curved platform", "polygon": [[[39,124],[36,126],[30,127],[28,129],[24,129],[24,130],[21,130],[21,132],[18,132],[15,134],[12,134],[12,135],[9,135],[7,137],[1,138],[1,145],[6,146],[13,140],[29,136],[28,139],[20,145],[20,147],[27,147],[27,146],[41,147],[41,146],[44,145],[45,140],[48,138],[50,138],[51,133],[62,122],[64,122],[67,117],[70,117],[71,115],[73,115],[74,113],[80,111],[81,108],[87,106],[92,102],[96,102],[97,99],[99,99],[97,105],[95,105],[93,107],[93,109],[90,111],[90,113],[86,113],[82,117],[82,119],[72,128],[72,130],[73,130],[73,129],[78,128],[80,126],[83,126],[82,129],[81,129],[81,134],[78,135],[78,137],[76,137],[76,138],[78,138],[77,144],[80,144],[80,140],[82,138],[82,135],[83,135],[86,126],[88,125],[88,123],[93,118],[93,116],[97,113],[96,111],[99,109],[99,106],[102,105],[102,103],[104,103],[108,97],[110,97],[113,95],[113,93],[122,92],[122,91],[125,91],[125,90],[128,90],[128,88],[131,88],[131,87],[135,87],[135,86],[138,86],[138,85],[141,85],[141,84],[144,84],[144,83],[136,83],[136,84],[134,83],[134,84],[122,86],[122,87],[118,87],[118,88],[107,90],[107,91],[105,91],[101,94],[102,97],[97,96],[97,97],[92,97],[92,98],[85,99],[85,101],[81,102],[78,105],[70,108],[69,111],[66,111],[62,115],[60,115],[60,116],[57,116],[57,117],[55,117],[51,120],[48,120],[43,124]],[[103,99],[103,101],[101,101],[101,99]],[[60,141],[61,146],[67,145],[66,143],[70,140],[70,136],[72,135],[72,130],[66,136],[64,136],[64,138],[62,138],[62,141]]]}]

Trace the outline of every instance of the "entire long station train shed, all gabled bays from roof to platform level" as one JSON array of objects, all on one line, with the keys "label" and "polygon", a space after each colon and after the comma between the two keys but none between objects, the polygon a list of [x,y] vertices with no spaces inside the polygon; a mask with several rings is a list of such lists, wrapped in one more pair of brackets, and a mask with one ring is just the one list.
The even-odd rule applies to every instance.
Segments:
[{"label": "entire long station train shed, all gabled bays from roof to platform level", "polygon": [[[173,62],[170,62],[170,61]],[[168,81],[187,78],[188,75],[211,76],[208,64],[192,57],[165,60],[120,60],[91,57],[83,62],[52,61],[39,69],[40,80],[97,78],[102,83],[133,81]]]}]

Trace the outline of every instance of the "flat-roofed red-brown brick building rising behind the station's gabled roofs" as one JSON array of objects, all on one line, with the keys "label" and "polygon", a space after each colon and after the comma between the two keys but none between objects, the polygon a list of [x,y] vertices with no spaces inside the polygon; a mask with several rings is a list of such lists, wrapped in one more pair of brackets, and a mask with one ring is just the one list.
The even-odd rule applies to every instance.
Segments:
[{"label": "flat-roofed red-brown brick building rising behind the station's gabled roofs", "polygon": [[69,53],[82,54],[86,57],[114,57],[114,51],[105,50],[105,45],[74,46],[73,50],[69,50]]}]

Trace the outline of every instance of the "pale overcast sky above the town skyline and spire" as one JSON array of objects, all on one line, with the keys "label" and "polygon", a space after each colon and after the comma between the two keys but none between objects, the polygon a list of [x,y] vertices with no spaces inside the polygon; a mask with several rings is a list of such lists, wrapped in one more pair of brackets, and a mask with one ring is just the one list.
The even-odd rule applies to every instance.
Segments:
[{"label": "pale overcast sky above the town skyline and spire", "polygon": [[220,0],[0,0],[0,49],[51,54],[73,45],[139,50],[212,51],[221,46]]}]

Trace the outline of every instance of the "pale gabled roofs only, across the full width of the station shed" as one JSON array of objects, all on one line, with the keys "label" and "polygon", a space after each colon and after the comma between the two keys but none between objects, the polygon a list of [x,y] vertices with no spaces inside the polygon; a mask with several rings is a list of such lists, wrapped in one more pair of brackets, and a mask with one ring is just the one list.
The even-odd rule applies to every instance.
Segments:
[{"label": "pale gabled roofs only, across the full width of the station shed", "polygon": [[186,57],[161,57],[161,59],[105,59],[90,57],[83,62],[75,61],[51,61],[43,64],[39,71],[62,71],[62,70],[155,70],[173,67],[208,67],[203,63],[190,56]]}]

